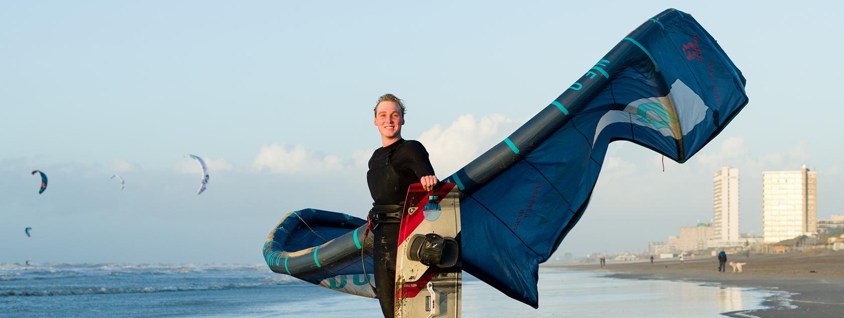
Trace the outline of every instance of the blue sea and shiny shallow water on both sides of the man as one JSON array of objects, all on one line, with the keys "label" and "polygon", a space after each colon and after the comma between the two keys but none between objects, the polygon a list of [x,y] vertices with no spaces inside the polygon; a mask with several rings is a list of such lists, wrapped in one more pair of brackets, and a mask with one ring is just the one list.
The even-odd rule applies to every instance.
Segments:
[{"label": "blue sea and shiny shallow water on both sides of the man", "polygon": [[[606,278],[541,267],[539,309],[464,274],[463,317],[753,316],[787,294]],[[341,294],[266,265],[0,263],[3,317],[379,317],[376,299]]]}]

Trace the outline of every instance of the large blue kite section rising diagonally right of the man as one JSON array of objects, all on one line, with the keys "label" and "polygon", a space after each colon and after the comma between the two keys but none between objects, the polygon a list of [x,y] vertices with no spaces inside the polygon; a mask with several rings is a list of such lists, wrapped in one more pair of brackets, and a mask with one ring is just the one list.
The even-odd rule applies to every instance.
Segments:
[{"label": "large blue kite section rising diagonally right of the man", "polygon": [[446,179],[463,191],[463,270],[538,308],[538,264],[586,211],[609,143],[627,140],[683,163],[747,105],[744,83],[688,13],[648,19]]}]

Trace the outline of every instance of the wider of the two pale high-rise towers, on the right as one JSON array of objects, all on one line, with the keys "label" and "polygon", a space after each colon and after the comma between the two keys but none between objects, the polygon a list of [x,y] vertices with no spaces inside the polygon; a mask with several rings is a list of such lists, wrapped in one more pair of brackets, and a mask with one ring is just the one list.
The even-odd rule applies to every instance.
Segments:
[{"label": "wider of the two pale high-rise towers, on the right", "polygon": [[762,172],[762,236],[766,243],[789,240],[818,229],[817,173]]}]

